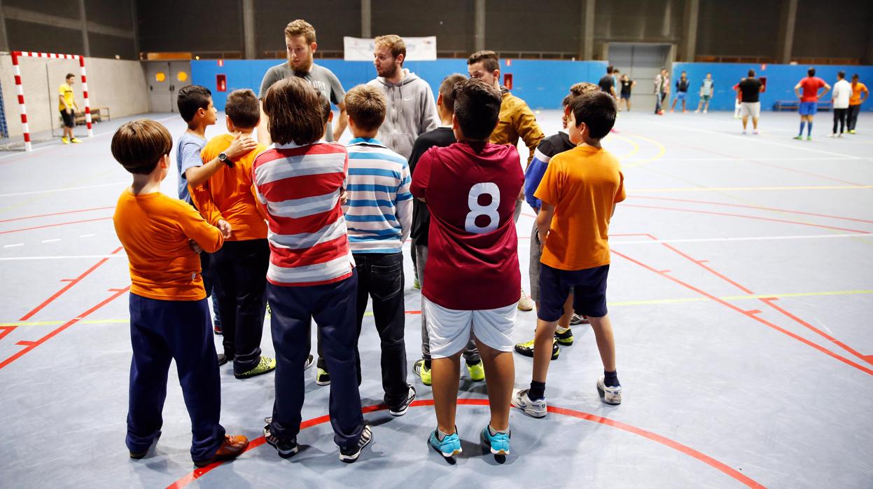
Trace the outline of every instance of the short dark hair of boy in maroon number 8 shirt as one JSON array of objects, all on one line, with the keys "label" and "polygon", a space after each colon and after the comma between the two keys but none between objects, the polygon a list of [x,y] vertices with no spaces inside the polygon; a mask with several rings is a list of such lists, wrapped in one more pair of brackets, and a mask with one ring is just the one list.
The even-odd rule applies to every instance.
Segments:
[{"label": "short dark hair of boy in maroon number 8 shirt", "polygon": [[481,79],[465,79],[455,84],[455,117],[464,137],[487,140],[497,126],[500,93]]}]

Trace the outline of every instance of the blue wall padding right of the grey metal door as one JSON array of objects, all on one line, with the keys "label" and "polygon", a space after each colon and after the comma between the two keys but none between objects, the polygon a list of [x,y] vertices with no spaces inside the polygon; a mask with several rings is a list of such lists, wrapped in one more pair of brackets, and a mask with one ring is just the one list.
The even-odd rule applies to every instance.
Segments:
[{"label": "blue wall padding right of the grey metal door", "polygon": [[[673,63],[672,79],[670,80],[670,96],[676,93],[676,80],[682,72],[688,72],[690,81],[686,107],[698,108],[700,100],[700,84],[706,78],[706,73],[712,73],[715,80],[715,95],[710,101],[710,110],[733,110],[733,100],[736,93],[732,86],[746,76],[749,70],[754,70],[758,77],[766,77],[766,91],[761,93],[761,110],[773,110],[777,100],[797,100],[794,86],[807,76],[808,65],[752,65],[746,63]],[[855,73],[868,89],[873,90],[873,66],[870,65],[816,65],[815,76],[825,80],[828,85],[836,83],[836,72],[846,72],[846,79],[851,81]],[[636,89],[651,91],[653,82],[648,79],[636,80]],[[821,100],[830,101],[830,93]],[[681,103],[681,102],[680,102]],[[642,107],[641,107],[642,108]],[[873,111],[873,100],[861,106],[862,111]]]}]

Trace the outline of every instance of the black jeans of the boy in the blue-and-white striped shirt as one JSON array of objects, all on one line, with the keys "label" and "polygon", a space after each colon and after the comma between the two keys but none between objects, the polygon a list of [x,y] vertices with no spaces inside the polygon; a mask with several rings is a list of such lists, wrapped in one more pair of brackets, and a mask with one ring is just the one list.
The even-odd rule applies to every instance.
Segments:
[{"label": "black jeans of the boy in the blue-and-white striped shirt", "polygon": [[[403,310],[403,254],[354,253],[358,272],[358,338],[367,302],[373,298],[373,319],[382,346],[382,389],[385,403],[395,407],[406,400],[406,343],[403,340],[406,316]],[[354,354],[361,384],[361,355],[355,341]]]}]

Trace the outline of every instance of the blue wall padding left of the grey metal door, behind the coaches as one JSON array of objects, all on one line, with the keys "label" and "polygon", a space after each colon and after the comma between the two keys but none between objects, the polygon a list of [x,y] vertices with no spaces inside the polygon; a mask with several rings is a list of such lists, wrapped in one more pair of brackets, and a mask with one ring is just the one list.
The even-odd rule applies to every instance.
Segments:
[{"label": "blue wall padding left of the grey metal door, behind the coaches", "polygon": [[[216,60],[191,61],[191,82],[209,88],[215,106],[223,110],[228,93],[239,88],[251,88],[257,94],[264,73],[281,62],[280,59],[227,59],[223,65],[219,65]],[[316,64],[330,69],[346,90],[376,77],[375,67],[369,61],[316,59]],[[501,81],[504,74],[512,74],[512,93],[524,99],[533,109],[560,108],[560,101],[567,95],[571,85],[580,81],[597,83],[606,73],[606,66],[606,61],[500,60]],[[435,98],[446,76],[455,72],[467,73],[466,59],[409,61],[404,63],[404,67],[426,80]],[[225,92],[217,89],[218,75],[226,79]]]}]

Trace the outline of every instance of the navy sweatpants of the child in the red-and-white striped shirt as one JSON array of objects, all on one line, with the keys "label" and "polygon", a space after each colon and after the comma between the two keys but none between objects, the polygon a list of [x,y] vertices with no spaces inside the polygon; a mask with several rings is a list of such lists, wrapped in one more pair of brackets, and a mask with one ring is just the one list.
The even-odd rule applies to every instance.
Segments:
[{"label": "navy sweatpants of the child in the red-and-white striped shirt", "polygon": [[270,430],[279,438],[296,437],[305,396],[303,364],[309,351],[312,320],[319,327],[321,348],[330,369],[330,423],[340,448],[358,443],[364,418],[354,348],[357,341],[355,299],[357,272],[324,286],[286,287],[267,284],[276,348],[276,401]]}]

